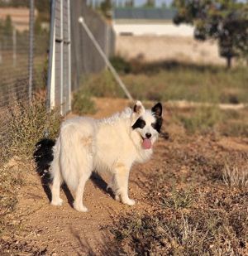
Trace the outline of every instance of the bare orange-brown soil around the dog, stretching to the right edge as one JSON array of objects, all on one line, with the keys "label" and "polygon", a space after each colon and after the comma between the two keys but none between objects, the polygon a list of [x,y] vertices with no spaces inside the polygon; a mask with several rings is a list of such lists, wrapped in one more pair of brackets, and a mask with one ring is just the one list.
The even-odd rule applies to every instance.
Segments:
[{"label": "bare orange-brown soil around the dog, stretching to the right edge", "polygon": [[[109,114],[124,109],[129,102],[125,99],[98,99],[98,112],[93,116],[103,118]],[[188,151],[203,152],[241,151],[248,152],[248,142],[241,138],[194,138],[188,140],[184,130],[169,121],[169,114],[165,113],[164,131],[169,132],[170,138],[160,138],[155,145],[154,155],[145,165],[132,168],[130,177],[130,196],[136,200],[136,205],[130,207],[113,200],[106,191],[107,177],[93,176],[87,182],[84,192],[84,204],[88,213],[79,213],[72,208],[73,196],[66,187],[61,190],[64,204],[55,207],[49,204],[50,191],[42,186],[41,178],[36,174],[34,164],[25,172],[25,186],[21,186],[18,193],[18,205],[13,220],[20,226],[18,234],[13,234],[12,243],[21,244],[18,255],[34,255],[30,251],[37,251],[36,255],[112,255],[107,243],[113,240],[113,235],[107,225],[114,225],[123,215],[131,211],[148,213],[154,209],[147,200],[147,176],[159,171],[169,164],[171,148],[187,147]],[[173,165],[171,166],[173,167]],[[184,167],[181,167],[184,172]],[[187,171],[187,170],[186,170]],[[28,173],[28,175],[27,175]],[[15,219],[17,218],[18,219]]]}]

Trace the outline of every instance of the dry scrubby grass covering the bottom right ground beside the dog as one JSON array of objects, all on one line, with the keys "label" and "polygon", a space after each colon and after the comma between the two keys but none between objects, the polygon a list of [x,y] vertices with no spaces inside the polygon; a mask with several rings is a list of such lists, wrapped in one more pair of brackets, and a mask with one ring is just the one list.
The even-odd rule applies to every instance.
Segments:
[{"label": "dry scrubby grass covering the bottom right ground beside the dog", "polygon": [[186,138],[159,147],[164,157],[144,191],[149,214],[133,211],[111,227],[126,255],[247,254],[246,154],[216,151],[211,137]]}]

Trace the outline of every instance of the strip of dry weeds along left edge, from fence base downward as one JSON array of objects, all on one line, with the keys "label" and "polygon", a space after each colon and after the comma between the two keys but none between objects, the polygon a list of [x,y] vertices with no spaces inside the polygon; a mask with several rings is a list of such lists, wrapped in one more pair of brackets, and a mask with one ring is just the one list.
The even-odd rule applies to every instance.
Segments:
[{"label": "strip of dry weeds along left edge, from fence base downward", "polygon": [[[56,138],[60,128],[60,114],[48,113],[44,101],[36,100],[31,105],[17,104],[10,109],[5,147],[1,148],[0,167],[0,235],[9,236],[17,232],[18,225],[13,224],[10,215],[17,205],[17,193],[23,186],[23,172],[30,168],[36,143],[45,136]],[[17,217],[16,217],[17,218]],[[16,221],[17,222],[17,221]],[[8,244],[0,239],[0,254],[6,250],[16,255],[20,244]],[[27,252],[28,250],[26,250]],[[40,255],[39,251],[29,251]]]}]

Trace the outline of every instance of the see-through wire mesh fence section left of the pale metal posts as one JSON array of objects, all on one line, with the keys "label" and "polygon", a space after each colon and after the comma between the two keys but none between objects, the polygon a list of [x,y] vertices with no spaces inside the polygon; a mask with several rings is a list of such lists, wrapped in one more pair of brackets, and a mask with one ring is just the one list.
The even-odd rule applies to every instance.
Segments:
[{"label": "see-through wire mesh fence section left of the pale metal posts", "polygon": [[12,108],[28,103],[36,91],[45,91],[49,34],[30,2],[31,8],[0,7],[1,147],[8,139]]}]

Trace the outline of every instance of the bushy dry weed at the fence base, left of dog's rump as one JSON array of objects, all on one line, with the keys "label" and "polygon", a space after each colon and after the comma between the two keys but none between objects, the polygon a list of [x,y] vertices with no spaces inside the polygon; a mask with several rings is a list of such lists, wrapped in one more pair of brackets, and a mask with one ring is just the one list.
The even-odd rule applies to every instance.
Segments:
[{"label": "bushy dry weed at the fence base, left of dog's rump", "polygon": [[57,138],[60,121],[60,114],[48,112],[44,102],[17,104],[10,110],[5,156],[31,158],[41,138]]}]

